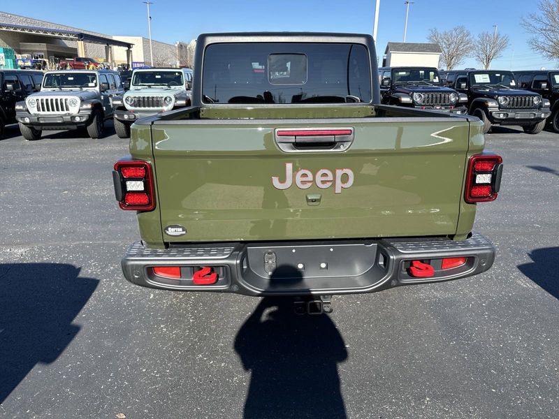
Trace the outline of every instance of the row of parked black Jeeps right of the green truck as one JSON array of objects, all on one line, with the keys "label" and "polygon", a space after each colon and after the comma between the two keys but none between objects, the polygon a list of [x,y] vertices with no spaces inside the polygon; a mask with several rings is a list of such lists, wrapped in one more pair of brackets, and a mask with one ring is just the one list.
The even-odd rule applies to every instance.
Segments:
[{"label": "row of parked black Jeeps right of the green truck", "polygon": [[473,115],[484,133],[516,125],[537,134],[547,123],[559,132],[559,71],[386,67],[379,68],[379,82],[382,103]]}]

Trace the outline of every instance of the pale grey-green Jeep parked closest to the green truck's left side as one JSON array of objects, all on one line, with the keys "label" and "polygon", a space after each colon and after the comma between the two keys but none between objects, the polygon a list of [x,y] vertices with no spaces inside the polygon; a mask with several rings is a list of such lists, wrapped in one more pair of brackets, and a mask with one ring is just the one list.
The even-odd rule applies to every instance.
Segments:
[{"label": "pale grey-green Jeep parked closest to the green truck's left side", "polygon": [[130,89],[112,100],[115,105],[115,131],[130,137],[136,119],[190,106],[190,68],[138,68],[132,72]]}]

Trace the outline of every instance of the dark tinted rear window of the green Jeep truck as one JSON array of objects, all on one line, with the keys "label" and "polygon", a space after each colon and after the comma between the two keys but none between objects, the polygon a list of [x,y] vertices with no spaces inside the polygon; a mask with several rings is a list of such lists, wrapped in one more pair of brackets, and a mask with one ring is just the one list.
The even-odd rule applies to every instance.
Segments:
[{"label": "dark tinted rear window of the green Jeep truck", "polygon": [[368,50],[351,43],[222,43],[204,54],[204,103],[371,101]]}]

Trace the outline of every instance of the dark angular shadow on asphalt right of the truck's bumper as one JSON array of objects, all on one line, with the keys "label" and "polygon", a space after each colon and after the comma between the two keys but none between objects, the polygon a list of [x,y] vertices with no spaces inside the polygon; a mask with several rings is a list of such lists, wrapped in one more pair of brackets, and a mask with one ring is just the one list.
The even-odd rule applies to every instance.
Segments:
[{"label": "dark angular shadow on asphalt right of the truck's bumper", "polygon": [[544,247],[529,253],[532,263],[518,265],[518,270],[535,284],[559,299],[559,275],[557,273],[559,247]]}]

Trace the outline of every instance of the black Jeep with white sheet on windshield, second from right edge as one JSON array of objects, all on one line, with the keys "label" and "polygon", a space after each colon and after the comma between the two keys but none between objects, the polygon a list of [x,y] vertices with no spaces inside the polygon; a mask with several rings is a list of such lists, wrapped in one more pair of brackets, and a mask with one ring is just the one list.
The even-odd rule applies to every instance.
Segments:
[{"label": "black Jeep with white sheet on windshield, second from right edge", "polygon": [[511,71],[447,71],[445,84],[467,95],[468,114],[491,125],[519,125],[525,133],[537,134],[551,115],[549,100],[537,93],[517,89]]}]

